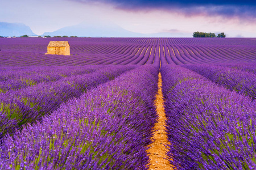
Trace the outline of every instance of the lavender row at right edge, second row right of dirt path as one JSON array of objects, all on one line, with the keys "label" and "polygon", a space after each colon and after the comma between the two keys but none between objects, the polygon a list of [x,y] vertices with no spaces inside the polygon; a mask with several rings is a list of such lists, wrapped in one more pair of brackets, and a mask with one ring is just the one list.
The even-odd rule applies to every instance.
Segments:
[{"label": "lavender row at right edge, second row right of dirt path", "polygon": [[213,65],[186,65],[184,67],[205,76],[212,82],[225,86],[229,90],[256,99],[256,76],[254,73]]}]

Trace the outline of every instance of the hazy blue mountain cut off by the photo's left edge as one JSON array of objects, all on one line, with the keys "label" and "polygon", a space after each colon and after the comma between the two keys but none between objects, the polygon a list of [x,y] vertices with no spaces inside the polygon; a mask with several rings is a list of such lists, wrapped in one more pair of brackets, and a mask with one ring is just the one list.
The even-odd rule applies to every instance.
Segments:
[{"label": "hazy blue mountain cut off by the photo's left edge", "polygon": [[0,22],[0,36],[36,36],[34,32],[23,23]]}]

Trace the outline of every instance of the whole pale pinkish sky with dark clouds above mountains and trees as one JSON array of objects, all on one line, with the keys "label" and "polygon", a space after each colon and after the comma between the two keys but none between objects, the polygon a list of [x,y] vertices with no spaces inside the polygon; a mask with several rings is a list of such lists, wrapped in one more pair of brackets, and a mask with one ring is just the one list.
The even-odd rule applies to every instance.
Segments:
[{"label": "whole pale pinkish sky with dark clouds above mountains and trees", "polygon": [[37,35],[81,22],[109,22],[139,33],[256,37],[253,0],[8,0],[0,6],[0,22],[24,23]]}]

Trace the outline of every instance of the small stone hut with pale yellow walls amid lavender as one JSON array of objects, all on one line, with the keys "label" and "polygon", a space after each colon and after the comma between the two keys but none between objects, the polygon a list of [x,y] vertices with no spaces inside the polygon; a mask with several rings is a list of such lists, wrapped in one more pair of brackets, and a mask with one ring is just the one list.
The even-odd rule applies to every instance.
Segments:
[{"label": "small stone hut with pale yellow walls amid lavender", "polygon": [[70,56],[70,45],[68,41],[49,41],[46,54]]}]

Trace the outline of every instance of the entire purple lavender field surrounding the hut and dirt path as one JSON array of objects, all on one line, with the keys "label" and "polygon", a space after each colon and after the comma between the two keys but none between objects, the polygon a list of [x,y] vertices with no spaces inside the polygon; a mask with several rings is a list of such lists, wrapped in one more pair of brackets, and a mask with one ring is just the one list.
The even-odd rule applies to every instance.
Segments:
[{"label": "entire purple lavender field surrounding the hut and dirt path", "polygon": [[[71,56],[45,54],[68,41]],[[0,39],[0,169],[256,169],[256,38]]]}]

